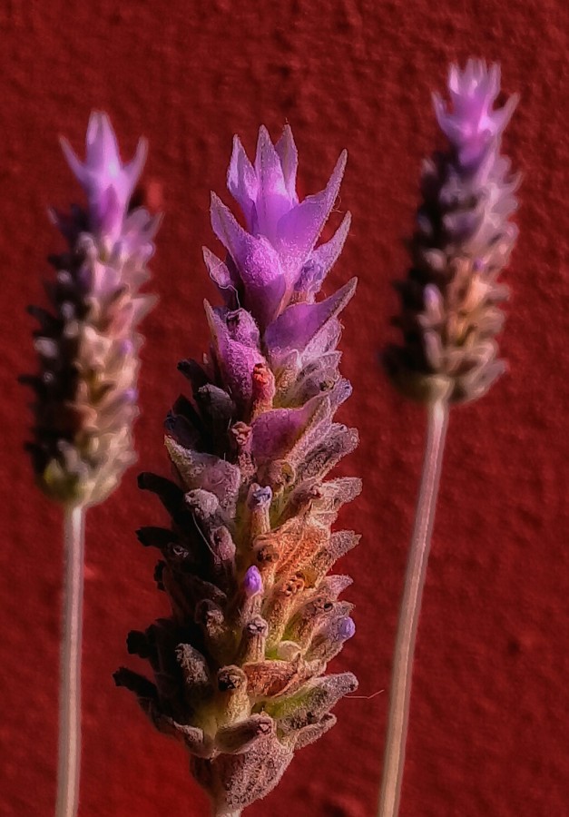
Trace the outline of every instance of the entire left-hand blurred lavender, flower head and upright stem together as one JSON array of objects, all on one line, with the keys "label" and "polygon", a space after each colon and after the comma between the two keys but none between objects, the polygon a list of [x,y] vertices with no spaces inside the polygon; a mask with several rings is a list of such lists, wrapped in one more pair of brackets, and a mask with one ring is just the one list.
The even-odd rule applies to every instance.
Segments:
[{"label": "entire left-hand blurred lavender, flower head and upright stem together", "polygon": [[80,684],[84,512],[102,502],[135,459],[132,422],[142,338],[137,325],[153,299],[148,278],[158,220],[129,212],[146,143],[123,165],[113,128],[93,113],[86,160],[62,140],[65,158],[87,196],[87,208],[52,211],[68,243],[53,256],[55,281],[46,284],[51,309],[31,307],[39,322],[34,345],[33,439],[28,444],[36,482],[64,507],[66,559],[61,655],[59,770],[56,813],[77,811],[80,762]]}]

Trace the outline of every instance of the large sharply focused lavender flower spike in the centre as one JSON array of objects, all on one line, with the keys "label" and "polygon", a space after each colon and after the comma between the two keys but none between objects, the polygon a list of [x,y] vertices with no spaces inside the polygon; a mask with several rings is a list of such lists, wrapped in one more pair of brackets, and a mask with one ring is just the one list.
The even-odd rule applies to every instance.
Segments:
[{"label": "large sharply focused lavender flower spike in the centre", "polygon": [[115,680],[185,745],[220,815],[270,792],[357,685],[326,667],[355,630],[338,600],[350,579],[329,569],[358,542],[331,526],[360,483],[325,478],[358,441],[333,421],[351,390],[336,346],[355,281],[316,300],[348,231],[349,215],[317,246],[344,164],[343,154],[326,189],[299,202],[289,127],[275,145],[260,129],[254,164],[235,139],[228,185],[246,228],[212,196],[228,255],[204,251],[225,305],[206,303],[204,365],[180,364],[191,397],[166,422],[172,479],[140,477],[171,517],[138,536],[162,553],[156,579],[172,615],[128,637],[152,681],[126,668]]}]

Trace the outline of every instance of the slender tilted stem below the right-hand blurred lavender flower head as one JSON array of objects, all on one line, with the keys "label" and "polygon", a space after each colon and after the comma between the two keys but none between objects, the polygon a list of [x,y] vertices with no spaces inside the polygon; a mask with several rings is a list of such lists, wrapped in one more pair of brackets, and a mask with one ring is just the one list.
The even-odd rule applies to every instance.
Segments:
[{"label": "slender tilted stem below the right-hand blurred lavender flower head", "polygon": [[438,400],[428,408],[427,448],[417,500],[415,527],[409,552],[405,590],[399,614],[397,641],[389,695],[388,736],[378,817],[397,817],[405,762],[413,654],[427,560],[437,506],[448,405]]}]

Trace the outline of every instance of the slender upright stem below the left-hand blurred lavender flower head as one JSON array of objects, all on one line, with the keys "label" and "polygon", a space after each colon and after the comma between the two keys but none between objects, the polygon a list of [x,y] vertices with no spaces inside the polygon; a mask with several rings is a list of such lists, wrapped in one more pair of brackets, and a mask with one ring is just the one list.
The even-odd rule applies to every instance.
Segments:
[{"label": "slender upright stem below the left-hand blurred lavender flower head", "polygon": [[79,803],[84,525],[83,507],[65,510],[64,628],[60,666],[56,817],[75,817]]}]

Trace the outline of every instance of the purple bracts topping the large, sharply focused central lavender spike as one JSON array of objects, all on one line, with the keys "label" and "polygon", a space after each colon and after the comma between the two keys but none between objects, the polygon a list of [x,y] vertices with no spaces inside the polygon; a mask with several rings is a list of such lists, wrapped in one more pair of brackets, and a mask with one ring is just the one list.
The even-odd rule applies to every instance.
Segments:
[{"label": "purple bracts topping the large, sharply focused central lavender spike", "polygon": [[229,269],[219,260],[210,271],[226,297],[242,290],[243,306],[264,329],[286,305],[293,292],[314,299],[324,276],[342,249],[349,213],[336,235],[318,250],[315,244],[338,196],[346,166],[342,153],[326,188],[299,202],[296,193],[297,149],[287,125],[273,145],[260,128],[255,163],[251,164],[239,138],[233,143],[228,188],[245,217],[247,230],[215,195],[211,196],[211,225],[231,255]]}]

